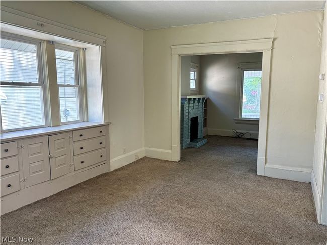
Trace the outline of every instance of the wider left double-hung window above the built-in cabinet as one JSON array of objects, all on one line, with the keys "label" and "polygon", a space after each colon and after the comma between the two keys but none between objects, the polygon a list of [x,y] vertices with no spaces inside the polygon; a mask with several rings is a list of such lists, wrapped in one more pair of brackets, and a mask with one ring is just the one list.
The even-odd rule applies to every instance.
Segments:
[{"label": "wider left double-hung window above the built-in cabinet", "polygon": [[47,126],[41,41],[2,35],[0,42],[1,130]]}]

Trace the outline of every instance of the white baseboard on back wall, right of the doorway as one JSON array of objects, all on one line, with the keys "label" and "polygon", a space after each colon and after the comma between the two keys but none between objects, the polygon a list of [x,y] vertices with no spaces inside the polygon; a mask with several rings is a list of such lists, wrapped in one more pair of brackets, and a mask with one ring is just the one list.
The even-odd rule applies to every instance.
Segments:
[{"label": "white baseboard on back wall, right of the doorway", "polygon": [[271,164],[266,164],[265,166],[265,176],[267,177],[306,183],[311,182],[311,171],[312,168],[286,167]]}]

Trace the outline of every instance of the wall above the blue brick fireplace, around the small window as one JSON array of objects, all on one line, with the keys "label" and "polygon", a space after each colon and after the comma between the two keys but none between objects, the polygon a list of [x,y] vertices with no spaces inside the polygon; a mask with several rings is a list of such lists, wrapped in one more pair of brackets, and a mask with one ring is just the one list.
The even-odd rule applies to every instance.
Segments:
[{"label": "wall above the blue brick fireplace, around the small window", "polygon": [[200,85],[200,68],[201,68],[201,58],[200,55],[193,56],[182,56],[181,61],[181,95],[199,95],[200,87],[198,90],[194,91],[190,89],[190,64],[194,63],[199,66],[197,83]]}]

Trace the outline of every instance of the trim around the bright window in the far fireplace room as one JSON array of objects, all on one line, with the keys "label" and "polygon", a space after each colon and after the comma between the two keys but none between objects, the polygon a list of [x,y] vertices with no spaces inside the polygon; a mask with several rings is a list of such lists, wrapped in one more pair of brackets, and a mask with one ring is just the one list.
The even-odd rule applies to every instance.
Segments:
[{"label": "trim around the bright window in the far fireplace room", "polygon": [[249,62],[249,63],[238,63],[237,68],[237,86],[236,86],[236,98],[239,99],[238,103],[235,103],[235,115],[234,121],[237,124],[255,124],[259,125],[258,118],[243,118],[242,117],[242,99],[243,99],[243,78],[244,71],[257,71],[262,70],[261,62]]}]

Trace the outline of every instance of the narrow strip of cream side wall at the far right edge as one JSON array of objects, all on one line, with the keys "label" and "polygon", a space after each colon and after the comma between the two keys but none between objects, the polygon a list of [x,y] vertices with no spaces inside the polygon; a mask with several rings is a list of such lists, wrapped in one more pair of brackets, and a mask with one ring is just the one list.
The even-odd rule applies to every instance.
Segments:
[{"label": "narrow strip of cream side wall at the far right edge", "polygon": [[[321,63],[320,63],[320,74],[325,74],[325,80],[319,81],[319,91],[316,93],[317,101],[317,117],[316,117],[316,128],[315,128],[315,140],[314,140],[314,157],[313,157],[313,176],[311,179],[311,185],[314,194],[314,201],[316,205],[316,211],[318,221],[321,220],[321,198],[323,190],[323,173],[325,171],[325,152],[326,152],[326,128],[327,128],[327,13],[325,10],[324,21],[323,21],[323,32],[322,39],[319,40],[319,45],[322,46],[321,50]],[[318,81],[318,76],[315,77]],[[318,101],[318,94],[324,94],[324,100]],[[326,184],[326,183],[325,183]],[[325,196],[327,195],[327,189]],[[327,200],[327,197],[326,197]],[[327,201],[325,203],[325,209],[327,209]],[[324,224],[327,225],[327,211],[324,214]]]}]

